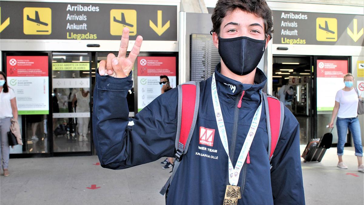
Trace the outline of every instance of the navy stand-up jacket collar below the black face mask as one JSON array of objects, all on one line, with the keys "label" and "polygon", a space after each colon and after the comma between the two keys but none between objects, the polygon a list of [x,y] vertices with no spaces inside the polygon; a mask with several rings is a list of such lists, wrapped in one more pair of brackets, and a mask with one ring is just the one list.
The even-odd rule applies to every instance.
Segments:
[{"label": "navy stand-up jacket collar below the black face mask", "polygon": [[264,88],[267,81],[267,78],[262,70],[256,70],[254,85],[244,84],[226,76],[223,76],[220,71],[221,64],[218,63],[215,67],[215,79],[218,84],[219,92],[226,93],[228,96],[235,99],[236,96],[238,96],[242,93],[243,90],[245,90],[245,94],[243,97],[244,99],[251,98],[250,100],[260,101],[259,90]]}]

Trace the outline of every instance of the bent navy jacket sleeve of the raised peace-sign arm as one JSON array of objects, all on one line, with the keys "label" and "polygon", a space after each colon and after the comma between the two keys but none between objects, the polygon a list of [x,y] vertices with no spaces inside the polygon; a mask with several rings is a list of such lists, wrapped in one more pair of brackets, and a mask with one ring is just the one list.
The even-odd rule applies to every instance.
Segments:
[{"label": "bent navy jacket sleeve of the raised peace-sign arm", "polygon": [[126,100],[132,83],[131,73],[126,78],[96,73],[92,129],[104,168],[126,169],[174,154],[177,89],[160,95],[132,119]]}]

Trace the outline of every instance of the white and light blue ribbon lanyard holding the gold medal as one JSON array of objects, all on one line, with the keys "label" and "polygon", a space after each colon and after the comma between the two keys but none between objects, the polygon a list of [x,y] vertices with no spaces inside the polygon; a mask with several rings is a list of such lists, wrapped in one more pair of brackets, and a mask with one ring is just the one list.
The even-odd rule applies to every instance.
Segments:
[{"label": "white and light blue ribbon lanyard holding the gold medal", "polygon": [[229,183],[230,183],[230,185],[237,186],[241,168],[244,165],[246,156],[248,155],[248,152],[249,152],[249,148],[252,145],[255,133],[258,128],[258,124],[260,121],[260,115],[261,115],[261,111],[262,111],[262,102],[260,103],[257,111],[254,114],[252,124],[250,125],[249,132],[246,135],[244,145],[241,148],[238,161],[236,162],[236,165],[234,168],[233,163],[229,156],[229,146],[227,143],[226,129],[225,129],[224,120],[222,118],[219,97],[217,95],[215,73],[212,75],[211,94],[212,94],[212,101],[213,101],[213,105],[214,105],[216,123],[217,123],[217,128],[219,130],[220,139],[221,139],[222,145],[225,148],[227,158],[229,158]]}]

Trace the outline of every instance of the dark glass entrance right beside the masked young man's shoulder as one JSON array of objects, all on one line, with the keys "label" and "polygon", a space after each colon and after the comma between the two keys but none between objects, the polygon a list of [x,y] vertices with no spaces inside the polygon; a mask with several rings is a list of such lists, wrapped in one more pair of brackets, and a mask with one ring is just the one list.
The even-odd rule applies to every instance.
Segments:
[{"label": "dark glass entrance right beside the masked young man's shoulder", "polygon": [[300,124],[300,144],[307,144],[312,129],[310,67],[310,57],[307,56],[273,57],[272,93],[286,107],[292,108],[292,113]]}]

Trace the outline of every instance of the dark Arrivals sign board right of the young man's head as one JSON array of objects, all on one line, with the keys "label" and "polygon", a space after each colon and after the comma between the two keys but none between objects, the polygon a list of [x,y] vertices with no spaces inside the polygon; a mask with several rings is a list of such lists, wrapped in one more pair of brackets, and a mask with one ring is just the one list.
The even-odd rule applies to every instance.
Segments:
[{"label": "dark Arrivals sign board right of the young man's head", "polygon": [[273,11],[273,43],[364,46],[364,15]]}]

